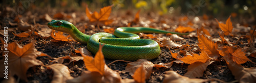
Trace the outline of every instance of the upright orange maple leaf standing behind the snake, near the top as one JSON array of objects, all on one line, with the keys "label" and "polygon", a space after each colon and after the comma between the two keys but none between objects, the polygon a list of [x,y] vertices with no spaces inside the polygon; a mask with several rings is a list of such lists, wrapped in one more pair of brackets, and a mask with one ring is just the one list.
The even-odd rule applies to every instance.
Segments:
[{"label": "upright orange maple leaf standing behind the snake, near the top", "polygon": [[104,25],[109,25],[113,22],[112,19],[109,20],[112,6],[101,8],[99,13],[96,11],[94,13],[91,13],[87,6],[86,15],[90,19],[90,22],[96,22],[97,25],[101,23],[103,23]]}]

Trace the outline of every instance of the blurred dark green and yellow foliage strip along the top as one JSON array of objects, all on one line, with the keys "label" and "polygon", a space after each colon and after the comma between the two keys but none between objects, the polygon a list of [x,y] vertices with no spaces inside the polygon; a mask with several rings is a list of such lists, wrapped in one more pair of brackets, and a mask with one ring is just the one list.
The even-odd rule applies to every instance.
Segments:
[{"label": "blurred dark green and yellow foliage strip along the top", "polygon": [[[254,0],[4,0],[0,1],[2,8],[6,6],[17,8],[24,2],[30,2],[39,8],[56,9],[84,9],[86,5],[90,9],[99,9],[113,5],[113,10],[138,10],[151,11],[157,14],[174,15],[213,15],[229,16],[231,13],[255,18],[256,1]],[[201,5],[203,4],[203,6]]]}]

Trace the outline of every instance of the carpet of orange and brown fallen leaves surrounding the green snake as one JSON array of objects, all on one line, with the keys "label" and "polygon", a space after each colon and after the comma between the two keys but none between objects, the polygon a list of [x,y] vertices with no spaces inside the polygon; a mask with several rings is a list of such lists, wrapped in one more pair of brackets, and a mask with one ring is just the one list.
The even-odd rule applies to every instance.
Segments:
[{"label": "carpet of orange and brown fallen leaves surrounding the green snake", "polygon": [[[129,16],[123,14],[124,16],[122,16],[119,14],[119,16],[115,16],[114,13],[116,12],[111,12],[111,7],[112,6],[103,7],[100,9],[99,13],[91,13],[86,6],[86,11],[82,12],[86,13],[86,17],[81,16],[84,14],[77,12],[57,12],[53,14],[41,14],[42,18],[34,19],[41,19],[44,23],[49,22],[51,19],[71,20],[79,30],[85,29],[86,32],[84,33],[89,35],[98,32],[113,33],[113,30],[119,26],[150,26],[166,31],[177,31],[181,33],[189,32],[190,34],[188,36],[176,36],[173,34],[163,35],[146,33],[142,38],[153,39],[157,41],[159,45],[163,45],[163,47],[161,47],[161,54],[157,59],[151,61],[138,60],[136,62],[114,62],[111,65],[106,66],[106,63],[111,63],[114,60],[104,59],[103,55],[100,53],[97,53],[96,56],[92,55],[94,58],[90,57],[91,53],[83,50],[87,49],[87,46],[72,41],[68,38],[68,34],[61,32],[56,33],[55,31],[50,33],[49,29],[41,29],[39,31],[32,27],[35,26],[33,25],[35,22],[23,22],[22,20],[19,20],[20,22],[11,22],[13,24],[11,27],[11,29],[13,29],[13,34],[9,33],[11,39],[10,42],[14,43],[14,41],[18,41],[18,44],[16,43],[17,47],[20,48],[21,46],[18,45],[24,45],[23,47],[25,49],[33,50],[31,54],[24,53],[24,58],[20,59],[29,57],[28,59],[31,60],[26,61],[33,61],[36,63],[30,65],[28,65],[28,63],[20,63],[20,65],[26,66],[23,67],[25,69],[16,72],[10,70],[10,72],[12,72],[10,76],[16,75],[14,77],[22,79],[21,82],[33,80],[39,81],[41,79],[33,79],[35,76],[31,76],[31,73],[42,74],[52,70],[52,75],[49,74],[51,76],[48,77],[52,80],[46,80],[48,82],[255,82],[255,79],[253,79],[255,78],[255,57],[249,56],[249,54],[253,56],[253,50],[243,50],[246,47],[252,49],[250,46],[253,45],[248,44],[248,42],[255,44],[255,38],[252,38],[255,33],[253,35],[244,35],[243,33],[232,30],[237,28],[236,26],[233,26],[233,18],[229,17],[224,24],[219,22],[217,20],[218,18],[216,21],[209,21],[208,16],[204,14],[202,17],[199,16],[199,18],[202,19],[199,20],[199,22],[202,22],[201,25],[194,24],[195,20],[190,20],[186,16],[169,18],[163,15],[155,16],[161,19],[154,19],[154,15],[152,15],[152,17],[148,19],[146,16],[143,16],[144,14],[140,12],[141,10],[138,10],[136,15]],[[140,16],[139,14],[143,15]],[[26,16],[19,16],[21,19],[24,19],[24,17]],[[177,23],[174,23],[174,20],[178,20]],[[209,22],[211,24],[209,24]],[[158,26],[158,24],[162,25],[162,23],[164,23],[165,26]],[[18,26],[15,27],[15,25]],[[95,25],[98,29],[95,28]],[[104,29],[106,26],[110,26],[111,28]],[[24,28],[25,30],[18,30],[21,27],[26,28]],[[251,30],[253,30],[252,28],[255,27],[251,26]],[[199,30],[196,31],[196,29]],[[217,34],[217,32],[222,31],[223,34]],[[247,33],[252,34],[252,32],[255,31],[248,31]],[[23,34],[20,34],[19,36],[18,33]],[[212,39],[214,38],[221,39],[221,43],[213,41]],[[31,39],[36,39],[36,41],[30,43],[29,40]],[[172,42],[170,42],[171,40]],[[167,44],[166,41],[168,41]],[[81,50],[80,48],[83,49]],[[25,49],[23,52],[26,51]],[[47,54],[53,58],[40,57],[48,56]],[[75,54],[77,58],[72,56],[72,54]],[[13,55],[20,56],[18,52]],[[0,61],[3,62],[3,59]],[[10,59],[10,61],[12,61],[12,59]],[[73,64],[70,64],[71,62],[73,62]],[[11,62],[9,63],[11,64]],[[63,63],[66,66],[63,65]],[[131,66],[130,64],[133,63],[137,64]],[[59,69],[63,69],[66,72],[60,72],[58,71]],[[26,72],[28,77],[26,76]],[[29,80],[27,80],[27,78],[29,78]]]}]

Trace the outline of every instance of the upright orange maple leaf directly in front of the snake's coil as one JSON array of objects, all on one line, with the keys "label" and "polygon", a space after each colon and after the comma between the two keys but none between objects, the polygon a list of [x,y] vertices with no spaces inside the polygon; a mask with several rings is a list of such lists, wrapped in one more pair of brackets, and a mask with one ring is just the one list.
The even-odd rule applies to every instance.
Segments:
[{"label": "upright orange maple leaf directly in front of the snake's coil", "polygon": [[86,68],[91,72],[94,72],[94,71],[99,72],[101,75],[104,75],[104,66],[105,66],[104,56],[102,53],[103,46],[104,45],[99,44],[99,50],[95,54],[94,59],[90,56],[83,56],[83,62],[84,62],[84,65],[86,65]]}]

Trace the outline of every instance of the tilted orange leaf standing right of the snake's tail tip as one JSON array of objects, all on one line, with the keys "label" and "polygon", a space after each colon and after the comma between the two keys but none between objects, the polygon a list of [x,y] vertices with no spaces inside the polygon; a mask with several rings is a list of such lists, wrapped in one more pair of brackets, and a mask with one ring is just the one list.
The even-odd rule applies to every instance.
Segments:
[{"label": "tilted orange leaf standing right of the snake's tail tip", "polygon": [[205,50],[209,57],[217,58],[219,56],[217,43],[214,43],[204,35],[199,34],[199,31],[197,31],[197,38],[199,42],[197,45],[200,49]]}]

